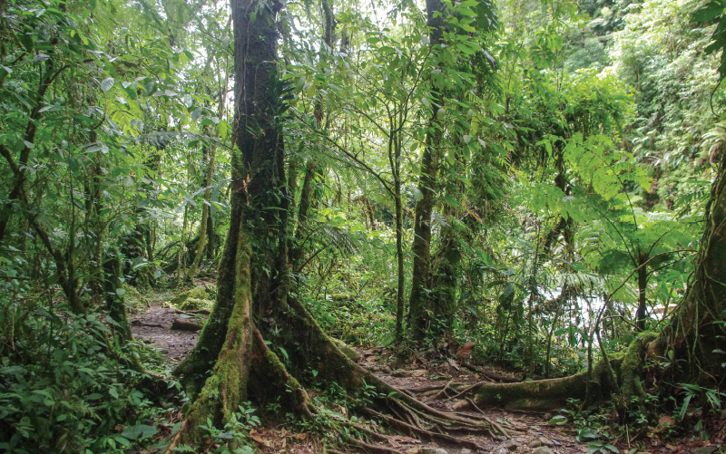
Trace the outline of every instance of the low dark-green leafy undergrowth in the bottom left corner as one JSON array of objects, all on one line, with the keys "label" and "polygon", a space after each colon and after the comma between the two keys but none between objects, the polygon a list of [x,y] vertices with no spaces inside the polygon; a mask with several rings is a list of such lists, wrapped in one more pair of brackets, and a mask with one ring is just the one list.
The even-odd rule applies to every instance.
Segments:
[{"label": "low dark-green leafy undergrowth in the bottom left corner", "polygon": [[[151,377],[129,366],[144,347],[110,355],[103,314],[38,307],[20,320],[14,336],[3,338],[0,448],[123,452],[149,443],[157,429],[140,421],[169,403],[152,397],[146,389]],[[168,384],[172,394],[179,392]],[[118,426],[125,428],[119,432]]]}]

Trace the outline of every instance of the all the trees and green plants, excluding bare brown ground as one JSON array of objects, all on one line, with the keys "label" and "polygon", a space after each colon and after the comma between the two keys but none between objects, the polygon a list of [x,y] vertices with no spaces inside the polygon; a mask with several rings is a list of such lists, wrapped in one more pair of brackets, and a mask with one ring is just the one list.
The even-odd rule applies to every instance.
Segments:
[{"label": "all the trees and green plants, excluding bare brown ground", "polygon": [[[614,396],[594,449],[664,413],[715,437],[725,8],[0,0],[0,449],[251,452],[252,409],[357,443],[330,402],[430,410],[331,338],[475,343],[582,384],[584,425]],[[170,364],[129,313],[200,278]]]}]

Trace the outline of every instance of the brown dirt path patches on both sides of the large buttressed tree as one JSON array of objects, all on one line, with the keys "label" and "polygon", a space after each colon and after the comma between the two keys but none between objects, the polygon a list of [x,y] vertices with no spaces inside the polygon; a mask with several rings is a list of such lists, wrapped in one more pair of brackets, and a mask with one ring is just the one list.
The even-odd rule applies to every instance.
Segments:
[{"label": "brown dirt path patches on both sides of the large buttressed tree", "polygon": [[[150,343],[159,349],[172,362],[181,361],[194,347],[199,333],[172,330],[174,319],[183,314],[163,304],[154,303],[142,314],[132,317],[133,335],[144,343]],[[457,402],[449,399],[446,392],[431,390],[444,388],[447,382],[471,383],[480,382],[482,377],[466,369],[457,371],[450,362],[443,362],[437,367],[421,363],[412,363],[405,370],[391,371],[381,355],[382,349],[360,349],[358,363],[376,372],[381,379],[397,388],[407,391],[427,404],[441,409],[454,410]],[[484,409],[482,409],[484,410]],[[466,410],[458,410],[464,411]],[[470,414],[475,414],[472,411]],[[486,417],[501,425],[509,432],[509,439],[492,440],[488,437],[466,436],[467,440],[475,441],[484,449],[478,452],[495,452],[497,454],[536,452],[548,453],[580,453],[587,449],[576,445],[571,436],[559,428],[549,426],[541,413],[513,413],[486,409]],[[264,453],[322,453],[323,443],[317,437],[305,433],[290,432],[284,427],[260,428],[252,430],[250,439],[254,440],[258,449]],[[472,449],[427,443],[407,436],[393,437],[390,448],[407,454],[472,454]],[[348,452],[362,452],[349,450]]]}]

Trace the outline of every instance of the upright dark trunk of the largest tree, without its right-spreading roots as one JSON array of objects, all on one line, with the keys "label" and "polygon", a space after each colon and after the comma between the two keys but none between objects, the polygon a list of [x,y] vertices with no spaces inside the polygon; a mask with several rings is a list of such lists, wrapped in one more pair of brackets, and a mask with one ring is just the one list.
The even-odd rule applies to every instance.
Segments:
[{"label": "upright dark trunk of the largest tree, without its right-spreading roots", "polygon": [[[284,149],[277,118],[275,17],[281,5],[232,0],[235,53],[231,222],[221,257],[217,301],[197,346],[177,367],[197,400],[191,425],[227,419],[247,399],[253,315],[285,304],[287,287]],[[254,124],[255,128],[251,128]],[[254,258],[252,258],[254,257]],[[213,366],[213,375],[207,372]]]}]

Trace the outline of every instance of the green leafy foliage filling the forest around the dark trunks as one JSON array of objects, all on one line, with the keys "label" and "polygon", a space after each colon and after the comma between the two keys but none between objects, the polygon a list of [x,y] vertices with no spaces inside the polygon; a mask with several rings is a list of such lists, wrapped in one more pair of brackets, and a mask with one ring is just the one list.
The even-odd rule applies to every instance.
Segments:
[{"label": "green leafy foliage filling the forest around the dark trunks", "polygon": [[[289,235],[252,244],[299,253],[291,291],[328,333],[389,343],[409,291],[393,289],[411,275],[425,150],[438,137],[424,291],[451,320],[428,308],[427,328],[442,335],[427,345],[471,340],[477,359],[532,376],[584,369],[595,333],[606,352],[622,351],[639,296],[648,312],[677,304],[692,271],[712,164],[726,152],[726,57],[710,55],[726,43],[726,4],[692,14],[685,0],[446,1],[438,45],[420,5],[384,4],[381,16],[330,4],[332,21],[310,2],[281,13],[284,64],[269,94],[287,150],[276,165],[289,167],[272,192],[294,215],[311,175],[311,200],[307,215],[289,216],[299,219]],[[138,299],[136,287],[178,289],[200,259],[213,275],[239,190],[227,6],[3,7],[0,446],[142,448],[161,403],[132,364],[162,359],[116,345],[106,305]],[[196,233],[202,207],[208,238]],[[195,256],[203,241],[215,245]],[[111,258],[123,275],[104,268]],[[209,290],[172,304],[209,305]],[[295,363],[297,352],[274,348]],[[380,397],[366,391],[362,400]],[[347,417],[333,394],[316,398],[325,411],[311,427]],[[684,385],[677,415],[696,397],[721,405]],[[208,423],[214,449],[247,452],[252,413]],[[567,417],[593,449],[613,451],[620,429],[602,415]]]}]

